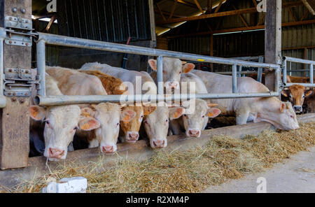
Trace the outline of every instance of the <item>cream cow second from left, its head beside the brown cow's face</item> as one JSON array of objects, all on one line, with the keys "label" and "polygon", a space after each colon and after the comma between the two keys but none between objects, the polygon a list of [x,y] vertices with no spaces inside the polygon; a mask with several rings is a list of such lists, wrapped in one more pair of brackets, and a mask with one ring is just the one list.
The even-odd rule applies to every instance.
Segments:
[{"label": "cream cow second from left, its head beside the brown cow's face", "polygon": [[[58,80],[58,87],[65,95],[106,95],[101,80],[96,76],[61,67],[47,67],[46,71]],[[130,122],[136,113],[131,109],[123,109],[115,103],[100,103],[92,108],[94,110],[82,109],[87,117],[94,117],[100,124],[98,129],[83,134],[89,137],[89,148],[99,146],[104,153],[116,152],[120,121]],[[79,134],[82,135],[82,132]]]}]

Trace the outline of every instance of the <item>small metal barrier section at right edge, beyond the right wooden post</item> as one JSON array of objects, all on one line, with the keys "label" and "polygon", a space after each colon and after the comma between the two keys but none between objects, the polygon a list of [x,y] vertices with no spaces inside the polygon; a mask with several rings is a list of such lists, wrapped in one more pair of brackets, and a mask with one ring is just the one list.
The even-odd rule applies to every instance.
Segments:
[{"label": "small metal barrier section at right edge, beyond the right wooden post", "polygon": [[[315,61],[308,60],[308,59],[300,59],[295,57],[283,57],[284,58],[284,66],[283,66],[283,85],[285,87],[290,87],[292,85],[302,85],[304,87],[315,87],[314,84],[314,65]],[[307,64],[309,65],[309,83],[287,83],[286,74],[288,72],[288,62],[296,62],[300,64]],[[292,70],[291,70],[292,71]],[[304,70],[303,70],[304,71]]]}]

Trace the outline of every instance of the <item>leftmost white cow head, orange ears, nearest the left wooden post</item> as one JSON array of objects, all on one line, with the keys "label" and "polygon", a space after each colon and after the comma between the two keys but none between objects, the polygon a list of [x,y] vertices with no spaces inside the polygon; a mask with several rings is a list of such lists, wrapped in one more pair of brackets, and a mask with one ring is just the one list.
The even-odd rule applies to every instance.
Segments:
[{"label": "leftmost white cow head, orange ears, nearest the left wooden post", "polygon": [[76,105],[52,108],[31,106],[29,112],[32,119],[45,122],[43,155],[50,161],[66,159],[68,145],[77,129],[90,131],[100,125],[92,117],[81,117],[80,107]]}]

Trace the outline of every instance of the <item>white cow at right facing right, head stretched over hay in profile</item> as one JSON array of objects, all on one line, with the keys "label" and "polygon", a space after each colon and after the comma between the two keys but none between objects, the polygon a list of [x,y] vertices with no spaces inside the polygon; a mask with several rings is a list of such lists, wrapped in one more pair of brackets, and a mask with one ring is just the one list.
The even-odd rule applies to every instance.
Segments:
[{"label": "white cow at right facing right, head stretched over hay in profile", "polygon": [[[199,76],[207,86],[209,93],[232,93],[232,76],[223,76],[216,73],[205,71],[193,71]],[[237,92],[239,93],[258,93],[269,92],[268,88],[253,78],[237,78]],[[290,103],[285,103],[272,98],[250,98],[250,99],[219,99],[213,100],[218,103],[222,113],[234,114],[237,118],[237,124],[246,124],[246,122],[269,122],[278,129],[297,129],[295,112]]]}]

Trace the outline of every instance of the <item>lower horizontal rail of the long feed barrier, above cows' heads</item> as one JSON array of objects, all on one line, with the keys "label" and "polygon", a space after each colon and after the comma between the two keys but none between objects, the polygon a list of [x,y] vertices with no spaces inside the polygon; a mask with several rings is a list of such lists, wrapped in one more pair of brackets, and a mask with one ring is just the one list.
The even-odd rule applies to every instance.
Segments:
[{"label": "lower horizontal rail of the long feed barrier, above cows' heads", "polygon": [[38,96],[34,99],[34,102],[39,106],[62,106],[71,104],[90,104],[90,103],[123,103],[128,100],[134,102],[156,103],[159,101],[183,101],[188,99],[245,99],[245,98],[267,98],[267,97],[279,97],[279,92],[267,92],[267,93],[235,93],[235,94],[173,94],[168,95],[107,95],[107,96]]}]

